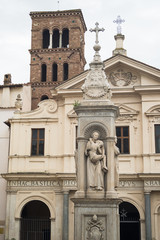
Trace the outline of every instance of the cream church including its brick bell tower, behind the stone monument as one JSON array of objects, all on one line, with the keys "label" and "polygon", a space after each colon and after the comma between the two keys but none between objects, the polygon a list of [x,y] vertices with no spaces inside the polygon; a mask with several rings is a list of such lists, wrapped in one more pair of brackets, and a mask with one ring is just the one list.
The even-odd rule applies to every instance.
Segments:
[{"label": "cream church including its brick bell tower, behind the stone monument", "polygon": [[[30,15],[32,110],[17,106],[8,120],[5,240],[73,240],[86,25],[81,10]],[[160,70],[126,56],[121,33],[115,40],[104,71],[119,108],[120,239],[159,240]]]}]

